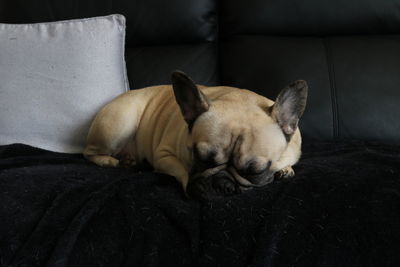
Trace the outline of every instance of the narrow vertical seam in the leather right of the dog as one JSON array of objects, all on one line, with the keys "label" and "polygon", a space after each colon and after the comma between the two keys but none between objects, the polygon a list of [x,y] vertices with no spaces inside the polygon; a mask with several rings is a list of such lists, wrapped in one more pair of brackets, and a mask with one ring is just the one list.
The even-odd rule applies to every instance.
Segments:
[{"label": "narrow vertical seam in the leather right of the dog", "polygon": [[326,62],[328,65],[329,84],[330,84],[331,99],[332,99],[333,138],[336,140],[339,138],[339,114],[338,114],[335,66],[332,60],[332,49],[327,38],[324,38],[323,44],[326,52]]}]

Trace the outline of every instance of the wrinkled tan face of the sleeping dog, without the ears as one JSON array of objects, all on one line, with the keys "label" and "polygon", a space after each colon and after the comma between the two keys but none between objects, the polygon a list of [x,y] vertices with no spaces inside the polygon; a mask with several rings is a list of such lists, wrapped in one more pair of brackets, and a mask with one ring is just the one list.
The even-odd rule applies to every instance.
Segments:
[{"label": "wrinkled tan face of the sleeping dog, without the ears", "polygon": [[224,171],[242,186],[271,182],[275,162],[287,146],[279,126],[261,109],[232,110],[229,116],[210,109],[192,130],[191,174]]}]

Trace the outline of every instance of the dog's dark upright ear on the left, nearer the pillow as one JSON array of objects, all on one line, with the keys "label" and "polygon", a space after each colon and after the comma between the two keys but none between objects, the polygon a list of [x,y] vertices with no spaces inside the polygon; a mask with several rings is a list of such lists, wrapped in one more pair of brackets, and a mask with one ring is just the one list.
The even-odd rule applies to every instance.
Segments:
[{"label": "dog's dark upright ear on the left, nearer the pillow", "polygon": [[171,80],[176,102],[181,109],[183,118],[191,128],[194,121],[209,109],[210,102],[185,73],[174,71]]}]

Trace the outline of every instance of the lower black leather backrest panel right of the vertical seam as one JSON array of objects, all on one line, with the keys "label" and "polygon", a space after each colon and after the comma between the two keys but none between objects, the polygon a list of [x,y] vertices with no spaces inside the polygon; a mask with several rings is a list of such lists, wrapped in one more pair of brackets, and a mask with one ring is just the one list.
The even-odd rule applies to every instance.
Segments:
[{"label": "lower black leather backrest panel right of the vertical seam", "polygon": [[400,141],[400,35],[331,38],[340,137]]}]

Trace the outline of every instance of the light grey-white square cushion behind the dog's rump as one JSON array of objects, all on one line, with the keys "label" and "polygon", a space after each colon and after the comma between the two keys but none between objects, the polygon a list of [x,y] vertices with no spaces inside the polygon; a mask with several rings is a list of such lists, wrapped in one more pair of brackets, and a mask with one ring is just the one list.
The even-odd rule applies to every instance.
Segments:
[{"label": "light grey-white square cushion behind the dog's rump", "polygon": [[82,152],[95,114],[129,88],[125,18],[0,24],[0,145]]}]

